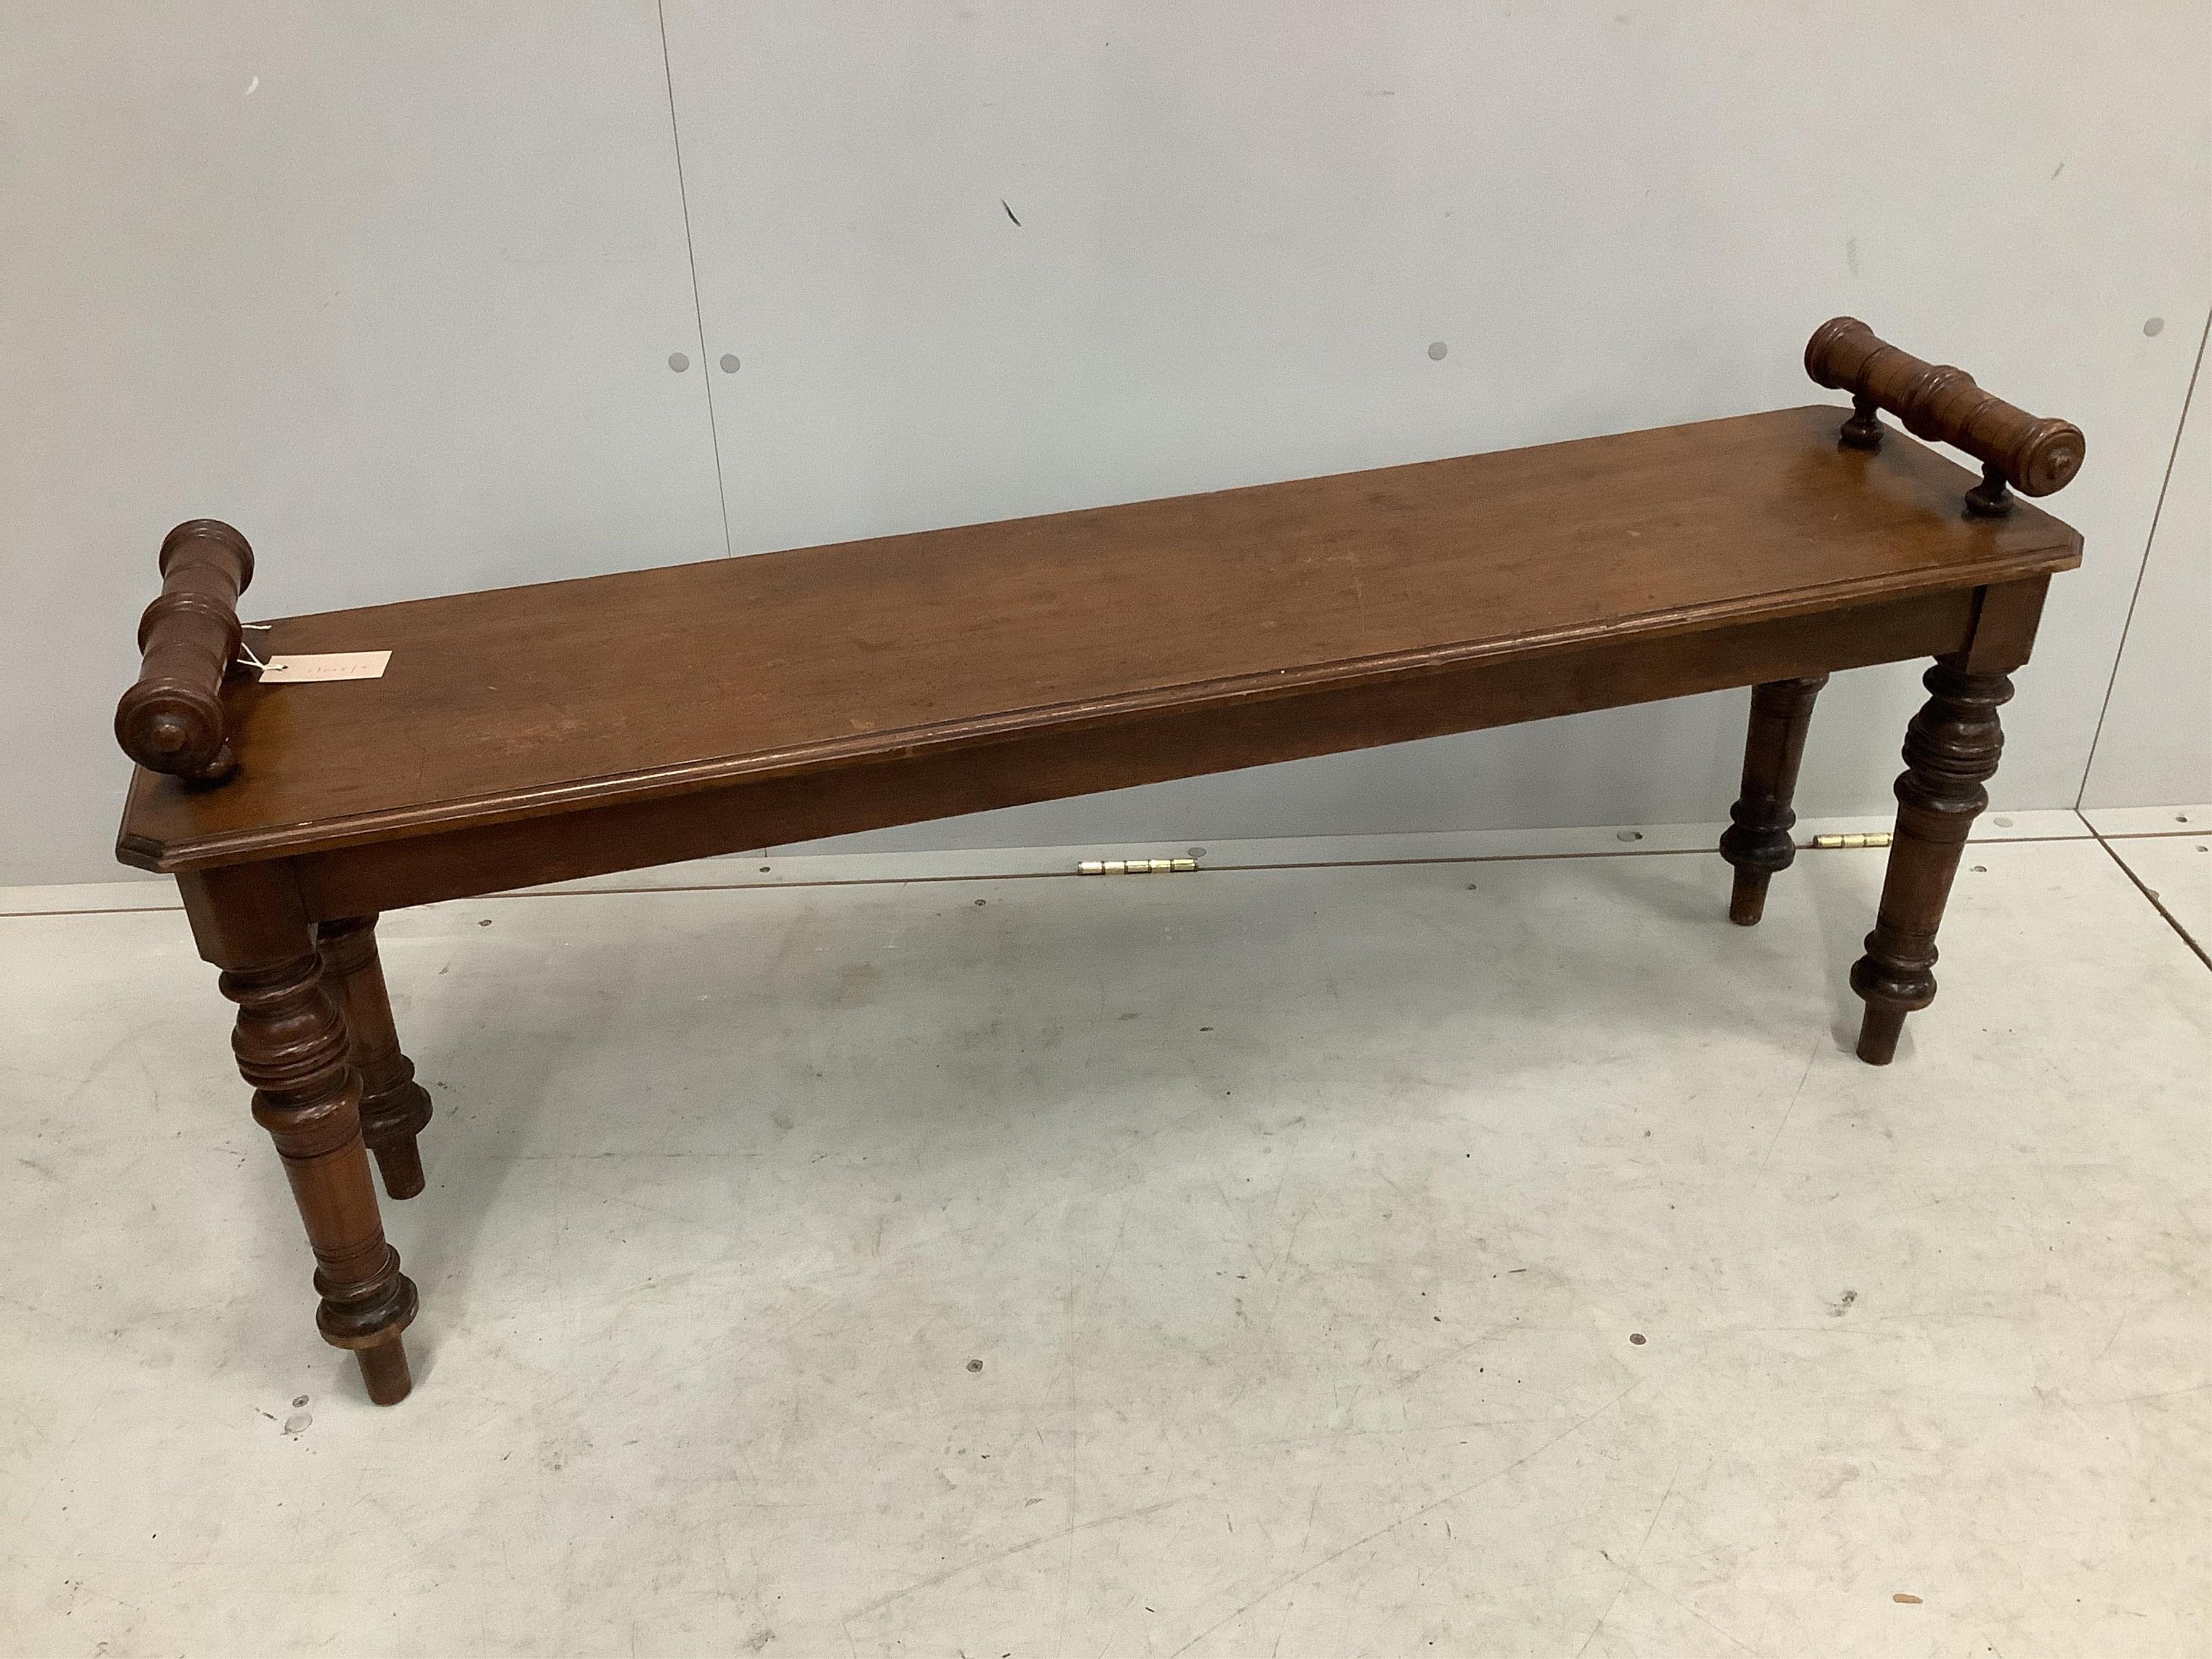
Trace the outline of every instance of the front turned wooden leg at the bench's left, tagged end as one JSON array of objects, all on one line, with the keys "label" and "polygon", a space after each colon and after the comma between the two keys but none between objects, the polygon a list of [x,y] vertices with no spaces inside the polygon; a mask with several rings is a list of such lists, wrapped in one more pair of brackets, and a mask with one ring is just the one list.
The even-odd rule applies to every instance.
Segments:
[{"label": "front turned wooden leg at the bench's left, tagged end", "polygon": [[230,1046],[314,1248],[316,1327],[354,1352],[376,1405],[396,1405],[411,1387],[400,1334],[416,1316],[416,1287],[385,1243],[361,1144],[361,1075],[314,931],[281,872],[248,865],[177,885],[201,956],[239,1006]]}]

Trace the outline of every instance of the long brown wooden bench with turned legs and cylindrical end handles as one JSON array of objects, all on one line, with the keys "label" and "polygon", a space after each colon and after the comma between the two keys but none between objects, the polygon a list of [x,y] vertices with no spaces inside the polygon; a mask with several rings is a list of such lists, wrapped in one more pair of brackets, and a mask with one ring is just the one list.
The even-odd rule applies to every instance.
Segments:
[{"label": "long brown wooden bench with turned legs and cylindrical end handles", "polygon": [[[1905,739],[1860,1057],[1936,995],[1936,925],[1995,772],[2044,586],[2079,562],[2015,502],[2081,434],[1851,319],[1805,352],[1851,394],[1663,431],[584,582],[288,617],[254,657],[389,650],[380,679],[241,668],[252,551],[161,546],[117,856],[177,876],[254,1117],[369,1398],[409,1389],[416,1290],[385,1190],[422,1190],[429,1097],[376,914],[1588,708],[1752,686],[1721,854],[1759,920],[1829,672],[1933,657]],[[1975,482],[1920,442],[1982,462]]]}]

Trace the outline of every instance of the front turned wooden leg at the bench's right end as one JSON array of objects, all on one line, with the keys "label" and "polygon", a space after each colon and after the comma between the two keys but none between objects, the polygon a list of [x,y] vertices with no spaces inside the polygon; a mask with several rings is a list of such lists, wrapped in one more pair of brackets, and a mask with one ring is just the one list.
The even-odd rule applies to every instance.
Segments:
[{"label": "front turned wooden leg at the bench's right end", "polygon": [[1867,1000],[1858,1057],[1869,1066],[1887,1066],[1905,1015],[1936,1000],[1936,927],[1966,832],[1989,805],[1982,785],[1997,772],[2004,748],[1997,708],[2013,697],[2011,679],[1973,672],[1960,657],[1938,657],[1922,684],[1929,701],[1905,730],[1882,907],[1867,953],[1851,967],[1851,989]]}]

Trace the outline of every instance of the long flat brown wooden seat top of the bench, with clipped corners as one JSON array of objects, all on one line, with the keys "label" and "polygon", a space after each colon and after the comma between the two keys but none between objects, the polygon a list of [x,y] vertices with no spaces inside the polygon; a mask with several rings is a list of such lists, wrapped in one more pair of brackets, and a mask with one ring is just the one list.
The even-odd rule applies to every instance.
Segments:
[{"label": "long flat brown wooden seat top of the bench, with clipped corners", "polygon": [[2079,535],[1812,405],[1411,467],[288,617],[380,679],[223,690],[234,776],[139,770],[119,856],[197,869],[1062,721],[2062,571]]}]

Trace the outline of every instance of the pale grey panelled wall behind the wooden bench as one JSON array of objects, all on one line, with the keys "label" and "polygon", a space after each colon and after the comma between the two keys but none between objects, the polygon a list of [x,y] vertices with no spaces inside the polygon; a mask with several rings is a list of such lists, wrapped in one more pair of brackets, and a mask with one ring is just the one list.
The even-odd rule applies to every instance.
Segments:
[{"label": "pale grey panelled wall behind the wooden bench", "polygon": [[[1832,312],[2090,436],[1995,785],[2070,805],[2212,305],[2190,0],[24,11],[0,880],[119,874],[108,712],[192,513],[276,615],[1805,403]],[[2168,743],[2121,692],[2104,741]],[[1838,681],[1805,810],[1880,810],[1916,701]],[[1741,703],[867,841],[1712,818]]]}]

